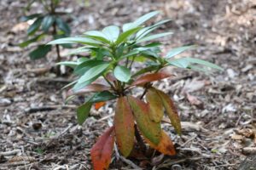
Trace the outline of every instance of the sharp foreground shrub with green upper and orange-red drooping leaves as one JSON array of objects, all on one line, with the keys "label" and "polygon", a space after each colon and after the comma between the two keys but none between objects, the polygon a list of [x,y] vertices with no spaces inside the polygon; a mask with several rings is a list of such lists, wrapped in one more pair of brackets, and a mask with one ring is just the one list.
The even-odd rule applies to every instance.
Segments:
[{"label": "sharp foreground shrub with green upper and orange-red drooping leaves", "polygon": [[[218,65],[205,60],[175,58],[175,55],[195,46],[173,48],[166,56],[160,56],[161,43],[152,41],[172,35],[172,32],[152,33],[169,20],[161,20],[153,26],[143,26],[156,14],[159,12],[145,14],[122,26],[122,30],[118,26],[108,26],[102,31],[86,31],[79,37],[61,38],[48,43],[80,43],[83,46],[74,49],[72,54],[90,52],[90,58],[82,57],[77,61],[59,63],[71,66],[78,76],[76,81],[67,85],[73,86],[68,91],[71,98],[75,95],[92,94],[78,108],[80,125],[90,116],[92,105],[99,108],[108,100],[117,101],[113,127],[109,127],[90,150],[96,170],[108,168],[113,141],[120,153],[127,157],[131,154],[135,141],[143,141],[140,135],[155,150],[170,156],[176,154],[172,139],[161,129],[160,123],[166,113],[180,135],[182,129],[177,110],[167,94],[152,86],[154,81],[173,77],[171,73],[162,71],[162,68],[174,65],[195,71],[222,70]],[[131,71],[135,62],[140,62],[143,68]],[[132,88],[143,88],[143,95],[140,98],[133,97]]]}]

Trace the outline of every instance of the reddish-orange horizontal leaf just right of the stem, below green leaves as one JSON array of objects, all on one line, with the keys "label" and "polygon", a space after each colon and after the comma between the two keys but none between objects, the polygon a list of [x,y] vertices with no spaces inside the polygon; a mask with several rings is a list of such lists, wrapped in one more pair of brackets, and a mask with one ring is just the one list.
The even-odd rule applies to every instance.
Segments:
[{"label": "reddish-orange horizontal leaf just right of the stem, below green leaves", "polygon": [[156,72],[156,73],[149,73],[146,75],[143,75],[142,77],[138,77],[137,80],[132,82],[131,86],[142,86],[143,84],[147,82],[154,82],[157,80],[161,80],[167,77],[172,77],[173,75],[167,72]]}]

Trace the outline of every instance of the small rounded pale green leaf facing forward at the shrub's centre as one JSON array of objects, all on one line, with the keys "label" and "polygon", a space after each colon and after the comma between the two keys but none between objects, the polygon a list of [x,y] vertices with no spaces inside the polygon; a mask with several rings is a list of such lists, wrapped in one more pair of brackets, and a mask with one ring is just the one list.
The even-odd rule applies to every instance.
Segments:
[{"label": "small rounded pale green leaf facing forward at the shrub's centre", "polygon": [[131,78],[131,71],[125,66],[117,65],[113,70],[113,75],[121,82],[128,82]]}]

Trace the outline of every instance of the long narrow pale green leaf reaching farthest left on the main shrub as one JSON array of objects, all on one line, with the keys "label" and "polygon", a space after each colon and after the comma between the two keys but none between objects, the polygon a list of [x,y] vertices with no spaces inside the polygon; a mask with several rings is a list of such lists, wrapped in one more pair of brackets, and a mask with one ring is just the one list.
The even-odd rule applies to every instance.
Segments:
[{"label": "long narrow pale green leaf reaching farthest left on the main shrub", "polygon": [[101,42],[87,38],[87,37],[64,37],[48,42],[47,44],[65,44],[65,43],[82,43],[86,45],[99,47]]}]

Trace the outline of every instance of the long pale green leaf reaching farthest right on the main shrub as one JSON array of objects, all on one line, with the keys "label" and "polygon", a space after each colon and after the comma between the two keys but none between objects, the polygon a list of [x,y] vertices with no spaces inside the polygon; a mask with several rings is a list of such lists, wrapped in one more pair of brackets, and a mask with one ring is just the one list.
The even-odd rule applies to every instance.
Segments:
[{"label": "long pale green leaf reaching farthest right on the main shrub", "polygon": [[188,68],[189,65],[191,64],[198,64],[198,65],[203,65],[212,69],[217,69],[219,71],[224,71],[223,68],[221,68],[218,65],[214,65],[206,60],[202,60],[202,59],[194,59],[194,58],[181,58],[181,59],[172,59],[172,60],[168,60],[170,65],[175,65],[177,67],[180,68]]}]

